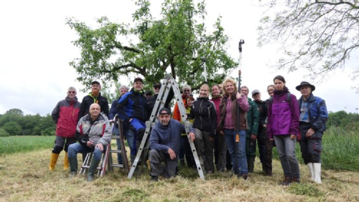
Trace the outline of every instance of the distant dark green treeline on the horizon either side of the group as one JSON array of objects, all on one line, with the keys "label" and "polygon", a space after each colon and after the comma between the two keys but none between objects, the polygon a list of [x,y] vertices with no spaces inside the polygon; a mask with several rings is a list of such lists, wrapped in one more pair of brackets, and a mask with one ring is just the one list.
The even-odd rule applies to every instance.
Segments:
[{"label": "distant dark green treeline on the horizon either side of the group", "polygon": [[[327,128],[340,127],[343,131],[359,131],[359,114],[345,111],[329,112]],[[0,114],[0,136],[54,135],[56,124],[51,115],[25,115],[20,109]]]}]

